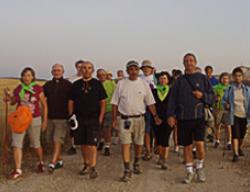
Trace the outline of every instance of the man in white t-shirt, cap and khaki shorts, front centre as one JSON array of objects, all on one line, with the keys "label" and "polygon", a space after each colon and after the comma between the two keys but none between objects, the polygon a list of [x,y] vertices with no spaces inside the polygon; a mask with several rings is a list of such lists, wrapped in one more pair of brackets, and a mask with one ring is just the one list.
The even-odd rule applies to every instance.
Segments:
[{"label": "man in white t-shirt, cap and khaki shorts, front centre", "polygon": [[[124,162],[124,175],[122,181],[130,179],[130,146],[134,144],[135,158],[133,163],[134,174],[141,174],[139,160],[145,135],[145,112],[148,107],[156,124],[160,124],[156,110],[155,100],[150,87],[139,78],[139,64],[136,61],[127,63],[128,79],[120,80],[111,100],[113,127],[119,123],[120,140],[122,144],[122,157]],[[117,122],[117,115],[121,118]]]}]

